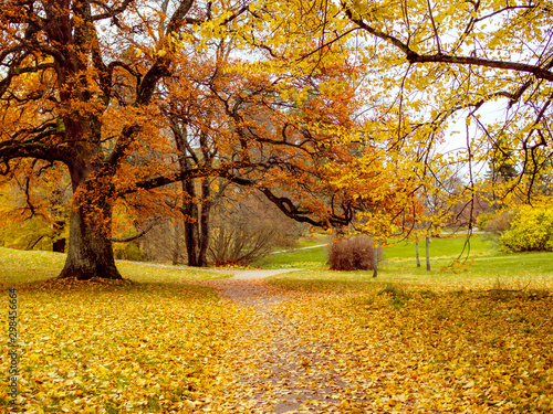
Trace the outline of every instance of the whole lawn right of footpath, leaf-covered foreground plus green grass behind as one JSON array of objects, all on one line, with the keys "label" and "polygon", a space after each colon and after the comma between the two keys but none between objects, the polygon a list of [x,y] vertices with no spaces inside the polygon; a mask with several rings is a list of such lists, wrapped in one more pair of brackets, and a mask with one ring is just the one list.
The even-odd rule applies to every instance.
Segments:
[{"label": "whole lawn right of footpath, leaf-covered foreground plus green grass behind", "polygon": [[301,298],[282,314],[328,338],[352,381],[368,378],[359,412],[553,412],[553,253],[504,254],[477,235],[468,265],[450,266],[463,242],[434,240],[431,272],[400,243],[377,278],[327,270],[323,250],[270,278]]}]

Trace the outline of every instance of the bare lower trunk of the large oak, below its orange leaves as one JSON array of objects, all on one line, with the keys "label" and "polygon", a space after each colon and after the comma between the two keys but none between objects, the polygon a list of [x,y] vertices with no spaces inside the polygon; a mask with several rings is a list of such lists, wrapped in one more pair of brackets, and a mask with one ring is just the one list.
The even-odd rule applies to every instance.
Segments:
[{"label": "bare lower trunk of the large oak, below its orange leaves", "polygon": [[[105,213],[109,213],[111,219],[111,211]],[[94,224],[85,220],[82,208],[71,212],[67,258],[59,277],[122,279],[115,266],[111,234],[94,229]]]}]

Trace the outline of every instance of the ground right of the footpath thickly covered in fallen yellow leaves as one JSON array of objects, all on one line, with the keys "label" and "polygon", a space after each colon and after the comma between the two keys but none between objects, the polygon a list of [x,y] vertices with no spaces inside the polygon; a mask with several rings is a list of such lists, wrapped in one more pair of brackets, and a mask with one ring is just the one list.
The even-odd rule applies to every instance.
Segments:
[{"label": "ground right of the footpath thickly covered in fallen yellow leaves", "polygon": [[351,407],[336,412],[553,412],[551,290],[384,279],[304,270],[271,280],[296,293],[279,315],[302,327],[304,347],[319,346],[366,395],[336,392]]}]

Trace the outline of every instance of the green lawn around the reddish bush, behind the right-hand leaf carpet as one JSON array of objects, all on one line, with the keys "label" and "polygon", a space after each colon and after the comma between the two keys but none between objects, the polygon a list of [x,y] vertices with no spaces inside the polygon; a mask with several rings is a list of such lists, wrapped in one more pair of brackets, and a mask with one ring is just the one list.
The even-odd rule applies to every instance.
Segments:
[{"label": "green lawn around the reddish bush, behind the right-hand leaf carpet", "polygon": [[[326,247],[272,255],[265,268],[303,268],[285,276],[271,278],[283,287],[303,290],[366,290],[374,284],[427,286],[435,289],[455,288],[551,288],[553,283],[553,253],[509,254],[499,250],[484,235],[470,240],[470,255],[459,262],[466,237],[432,238],[430,267],[426,270],[425,244],[419,243],[421,267],[416,267],[415,244],[400,242],[385,250],[378,277],[373,272],[331,272],[327,269]],[[467,252],[467,251],[466,251]]]}]

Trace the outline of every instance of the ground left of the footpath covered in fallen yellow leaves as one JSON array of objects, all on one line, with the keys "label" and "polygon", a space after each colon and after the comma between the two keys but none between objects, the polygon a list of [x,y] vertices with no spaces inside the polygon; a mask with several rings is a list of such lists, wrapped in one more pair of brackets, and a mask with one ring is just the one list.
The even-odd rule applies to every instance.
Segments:
[{"label": "ground left of the footpath covered in fallen yellow leaves", "polygon": [[[240,326],[200,286],[46,283],[18,293],[21,378],[13,412],[188,410],[213,386],[212,361]],[[7,340],[1,354],[8,355]],[[2,357],[0,371],[8,364]],[[0,407],[7,407],[2,380]]]}]

